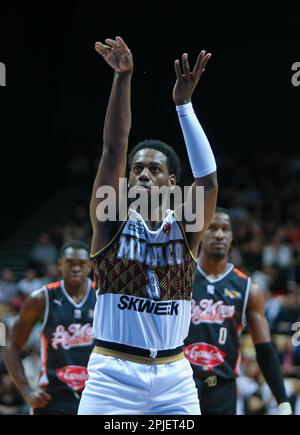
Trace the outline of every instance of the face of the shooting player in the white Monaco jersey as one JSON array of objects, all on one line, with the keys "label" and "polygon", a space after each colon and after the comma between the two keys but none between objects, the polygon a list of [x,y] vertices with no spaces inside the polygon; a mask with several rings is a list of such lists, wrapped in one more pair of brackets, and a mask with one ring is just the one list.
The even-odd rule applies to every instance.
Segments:
[{"label": "face of the shooting player in the white Monaco jersey", "polygon": [[148,191],[152,186],[172,186],[175,176],[169,175],[167,157],[160,151],[144,148],[138,151],[132,161],[129,187],[137,191]]}]

